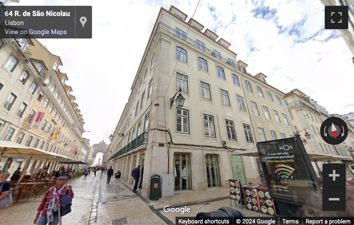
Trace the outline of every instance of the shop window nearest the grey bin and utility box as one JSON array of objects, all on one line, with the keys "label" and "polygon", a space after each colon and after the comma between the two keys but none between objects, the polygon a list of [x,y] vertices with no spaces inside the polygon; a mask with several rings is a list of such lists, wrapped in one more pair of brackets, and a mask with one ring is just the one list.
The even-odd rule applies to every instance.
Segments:
[{"label": "shop window nearest the grey bin and utility box", "polygon": [[192,190],[190,154],[173,155],[173,173],[175,174],[175,191]]}]

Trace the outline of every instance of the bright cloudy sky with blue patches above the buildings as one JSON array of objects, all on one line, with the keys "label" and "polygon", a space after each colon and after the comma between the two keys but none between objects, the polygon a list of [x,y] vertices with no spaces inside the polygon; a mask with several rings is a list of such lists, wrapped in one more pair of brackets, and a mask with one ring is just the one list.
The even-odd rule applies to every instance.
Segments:
[{"label": "bright cloudy sky with blue patches above the buildings", "polygon": [[[130,95],[160,7],[192,16],[197,0],[22,0],[20,5],[92,5],[92,39],[42,39],[85,119],[91,144],[114,130]],[[143,19],[142,19],[143,18]],[[298,88],[330,113],[354,111],[353,57],[336,30],[324,29],[320,0],[201,0],[194,19],[230,42],[248,72],[284,92]],[[330,90],[334,91],[330,91]],[[333,92],[335,94],[333,94]],[[350,97],[344,97],[350,96]]]}]

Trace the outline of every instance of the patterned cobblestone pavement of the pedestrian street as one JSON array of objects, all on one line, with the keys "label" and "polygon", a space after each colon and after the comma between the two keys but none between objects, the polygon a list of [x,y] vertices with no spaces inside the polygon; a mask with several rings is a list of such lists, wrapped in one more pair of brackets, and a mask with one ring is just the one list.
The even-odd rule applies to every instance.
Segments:
[{"label": "patterned cobblestone pavement of the pedestrian street", "polygon": [[[209,212],[230,205],[225,188],[175,192],[173,197],[150,202],[139,192],[132,192],[132,185],[127,185],[125,181],[112,179],[110,184],[106,184],[106,178],[107,175],[100,179],[91,174],[70,183],[75,193],[73,211],[63,217],[63,224],[175,224],[176,216],[195,216],[198,212]],[[15,203],[0,211],[0,224],[32,224],[40,200],[37,198]],[[187,206],[191,212],[183,215],[166,213],[163,210],[166,205]],[[240,209],[234,204],[233,207]],[[245,207],[242,211],[246,216],[265,216]]]}]

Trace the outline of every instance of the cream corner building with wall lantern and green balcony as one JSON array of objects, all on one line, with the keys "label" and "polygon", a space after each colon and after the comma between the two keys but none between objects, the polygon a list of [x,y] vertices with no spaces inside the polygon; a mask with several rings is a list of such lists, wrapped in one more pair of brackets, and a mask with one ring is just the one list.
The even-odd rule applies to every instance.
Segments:
[{"label": "cream corner building with wall lantern and green balcony", "polygon": [[[144,196],[152,174],[174,174],[175,191],[259,184],[256,159],[235,154],[293,135],[285,94],[247,73],[229,46],[177,8],[160,9],[108,155],[129,184],[142,165]],[[170,108],[179,88],[184,105]]]}]

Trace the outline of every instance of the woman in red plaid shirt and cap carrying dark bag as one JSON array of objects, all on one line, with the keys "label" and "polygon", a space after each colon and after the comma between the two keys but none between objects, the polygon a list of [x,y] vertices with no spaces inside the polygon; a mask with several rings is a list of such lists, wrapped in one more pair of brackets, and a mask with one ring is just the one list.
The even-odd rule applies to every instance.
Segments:
[{"label": "woman in red plaid shirt and cap carrying dark bag", "polygon": [[60,174],[56,180],[56,184],[45,193],[37,209],[36,217],[33,220],[34,224],[57,225],[59,223],[59,220],[61,220],[60,198],[66,193],[69,193],[70,197],[74,198],[72,187],[66,185],[67,180],[68,175]]}]

